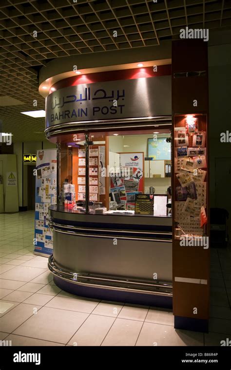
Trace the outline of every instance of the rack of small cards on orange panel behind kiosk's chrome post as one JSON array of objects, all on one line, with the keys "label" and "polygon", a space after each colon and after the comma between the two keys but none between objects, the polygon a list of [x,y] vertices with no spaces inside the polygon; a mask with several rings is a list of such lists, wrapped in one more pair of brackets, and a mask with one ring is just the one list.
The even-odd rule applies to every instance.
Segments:
[{"label": "rack of small cards on orange panel behind kiosk's chrome post", "polygon": [[[102,152],[99,148],[89,149],[89,201],[93,202],[99,201],[99,164],[102,159]],[[78,149],[77,201],[85,201],[85,171],[85,149]]]}]

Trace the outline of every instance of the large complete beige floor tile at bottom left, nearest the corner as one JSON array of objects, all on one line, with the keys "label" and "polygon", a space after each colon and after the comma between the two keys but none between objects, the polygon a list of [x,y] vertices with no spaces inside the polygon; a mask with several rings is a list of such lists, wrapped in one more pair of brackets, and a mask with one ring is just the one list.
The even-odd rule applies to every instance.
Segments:
[{"label": "large complete beige floor tile at bottom left, nearest the corner", "polygon": [[42,307],[14,334],[66,344],[88,314]]}]

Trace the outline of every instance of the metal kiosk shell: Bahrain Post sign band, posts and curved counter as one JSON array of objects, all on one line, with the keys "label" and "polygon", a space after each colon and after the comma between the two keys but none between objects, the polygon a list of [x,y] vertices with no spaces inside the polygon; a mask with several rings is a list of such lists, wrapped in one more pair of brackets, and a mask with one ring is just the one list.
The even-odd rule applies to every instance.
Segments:
[{"label": "metal kiosk shell: Bahrain Post sign band, posts and curved counter", "polygon": [[[70,80],[66,88],[62,84],[58,90],[56,84],[57,91],[46,97],[45,133],[50,141],[57,143],[58,159],[63,137],[67,143],[67,138],[84,133],[87,147],[90,132],[154,130],[156,126],[164,128],[171,125],[169,75],[155,77],[150,69],[151,78],[119,81],[119,71],[114,71],[114,77],[116,74],[118,81],[83,85],[88,93],[88,98],[83,99],[87,102],[83,104],[91,112],[85,120],[76,120],[75,117],[70,120],[70,113],[62,113],[57,104],[58,101],[64,104],[65,101],[65,109],[69,112],[74,110],[76,103],[66,99],[66,96],[79,96],[81,85],[73,86]],[[146,85],[143,86],[144,82]],[[89,89],[92,89],[92,98],[94,89],[99,86],[110,91],[112,88],[124,89],[123,95],[119,96],[122,100],[126,97],[122,114],[117,111],[113,119],[110,118],[112,116],[105,117],[103,110],[107,110],[103,104],[108,103],[105,100],[90,102]],[[73,93],[75,95],[70,95]],[[96,103],[97,114],[93,119]],[[87,153],[86,164],[88,166]],[[58,183],[59,171],[58,164]],[[92,214],[87,194],[86,212],[68,210],[57,204],[49,207],[49,216],[54,250],[48,267],[61,289],[79,296],[172,308],[172,217]]]}]

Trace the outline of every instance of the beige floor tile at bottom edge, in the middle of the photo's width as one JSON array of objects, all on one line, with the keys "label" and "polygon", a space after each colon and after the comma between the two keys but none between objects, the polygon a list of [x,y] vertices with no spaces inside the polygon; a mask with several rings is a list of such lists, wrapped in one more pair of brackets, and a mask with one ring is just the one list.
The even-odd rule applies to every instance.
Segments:
[{"label": "beige floor tile at bottom edge, in the middle of the photo's width", "polygon": [[116,318],[102,346],[135,346],[142,321]]}]

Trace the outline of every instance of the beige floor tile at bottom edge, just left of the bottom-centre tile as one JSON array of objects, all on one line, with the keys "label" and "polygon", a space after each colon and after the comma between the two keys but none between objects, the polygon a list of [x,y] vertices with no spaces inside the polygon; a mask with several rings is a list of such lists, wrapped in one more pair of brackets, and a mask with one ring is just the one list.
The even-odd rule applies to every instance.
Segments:
[{"label": "beige floor tile at bottom edge, just left of the bottom-centre tile", "polygon": [[91,314],[68,342],[75,346],[100,346],[115,318]]}]

